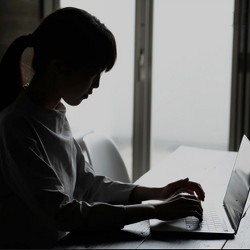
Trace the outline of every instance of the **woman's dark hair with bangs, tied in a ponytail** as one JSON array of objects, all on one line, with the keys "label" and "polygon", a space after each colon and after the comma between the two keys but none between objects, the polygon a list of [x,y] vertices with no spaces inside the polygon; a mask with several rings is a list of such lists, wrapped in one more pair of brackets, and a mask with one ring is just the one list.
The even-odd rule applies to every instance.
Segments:
[{"label": "woman's dark hair with bangs, tied in a ponytail", "polygon": [[49,61],[59,59],[69,70],[86,67],[109,71],[116,61],[113,34],[88,12],[67,7],[47,16],[33,34],[17,38],[0,63],[0,111],[10,105],[23,87],[22,54],[34,48],[32,66],[42,72]]}]

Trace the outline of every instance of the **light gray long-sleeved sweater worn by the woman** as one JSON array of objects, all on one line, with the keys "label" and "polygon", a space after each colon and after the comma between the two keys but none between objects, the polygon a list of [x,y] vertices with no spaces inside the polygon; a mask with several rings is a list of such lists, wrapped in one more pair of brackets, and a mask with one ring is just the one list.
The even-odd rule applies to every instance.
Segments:
[{"label": "light gray long-sleeved sweater worn by the woman", "polygon": [[24,90],[0,113],[0,246],[47,247],[72,230],[120,229],[134,184],[96,176],[66,110]]}]

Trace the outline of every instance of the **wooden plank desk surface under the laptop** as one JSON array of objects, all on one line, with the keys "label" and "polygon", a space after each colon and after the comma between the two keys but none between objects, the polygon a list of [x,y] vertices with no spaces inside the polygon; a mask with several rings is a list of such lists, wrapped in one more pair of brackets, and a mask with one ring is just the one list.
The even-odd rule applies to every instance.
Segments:
[{"label": "wooden plank desk surface under the laptop", "polygon": [[[136,183],[146,186],[162,186],[169,182],[189,177],[202,184],[206,202],[221,202],[224,198],[235,159],[235,152],[216,151],[192,147],[179,147],[161,165],[143,175]],[[248,202],[249,203],[249,202]],[[247,204],[248,207],[248,204]],[[149,222],[125,226],[118,232],[72,233],[63,239],[59,248],[110,248],[110,249],[155,249],[155,248],[250,248],[250,214],[242,219],[234,239],[155,239],[150,234]]]}]

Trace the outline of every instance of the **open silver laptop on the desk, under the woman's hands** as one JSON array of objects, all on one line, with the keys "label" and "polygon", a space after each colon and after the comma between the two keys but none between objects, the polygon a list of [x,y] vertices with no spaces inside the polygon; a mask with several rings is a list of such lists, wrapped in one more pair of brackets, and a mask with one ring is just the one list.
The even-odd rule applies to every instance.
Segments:
[{"label": "open silver laptop on the desk, under the woman's hands", "polygon": [[233,238],[237,233],[249,194],[250,141],[244,135],[226,194],[221,204],[203,204],[203,221],[196,217],[161,221],[150,220],[152,236],[194,236]]}]

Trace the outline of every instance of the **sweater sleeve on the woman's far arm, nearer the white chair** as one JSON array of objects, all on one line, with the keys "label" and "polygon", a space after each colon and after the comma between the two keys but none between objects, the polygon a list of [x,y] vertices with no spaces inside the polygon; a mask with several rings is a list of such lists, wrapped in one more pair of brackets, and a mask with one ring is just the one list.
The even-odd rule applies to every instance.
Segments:
[{"label": "sweater sleeve on the woman's far arm, nearer the white chair", "polygon": [[75,198],[89,203],[129,204],[129,197],[137,185],[113,181],[105,176],[95,175],[92,166],[85,161],[81,148],[76,141],[75,145],[77,148]]}]

